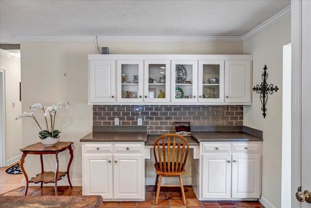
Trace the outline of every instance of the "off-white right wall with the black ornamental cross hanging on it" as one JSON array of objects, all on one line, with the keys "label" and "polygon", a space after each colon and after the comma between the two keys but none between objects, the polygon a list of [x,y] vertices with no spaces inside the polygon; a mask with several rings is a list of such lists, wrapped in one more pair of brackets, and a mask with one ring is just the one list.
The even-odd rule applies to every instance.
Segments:
[{"label": "off-white right wall with the black ornamental cross hanging on it", "polygon": [[262,116],[256,92],[252,95],[252,105],[244,107],[244,125],[263,131],[261,202],[265,207],[281,207],[282,57],[283,45],[290,42],[290,16],[244,42],[244,53],[253,55],[253,86],[262,82],[261,74],[266,64],[268,84],[280,88],[268,95],[266,118]]}]

